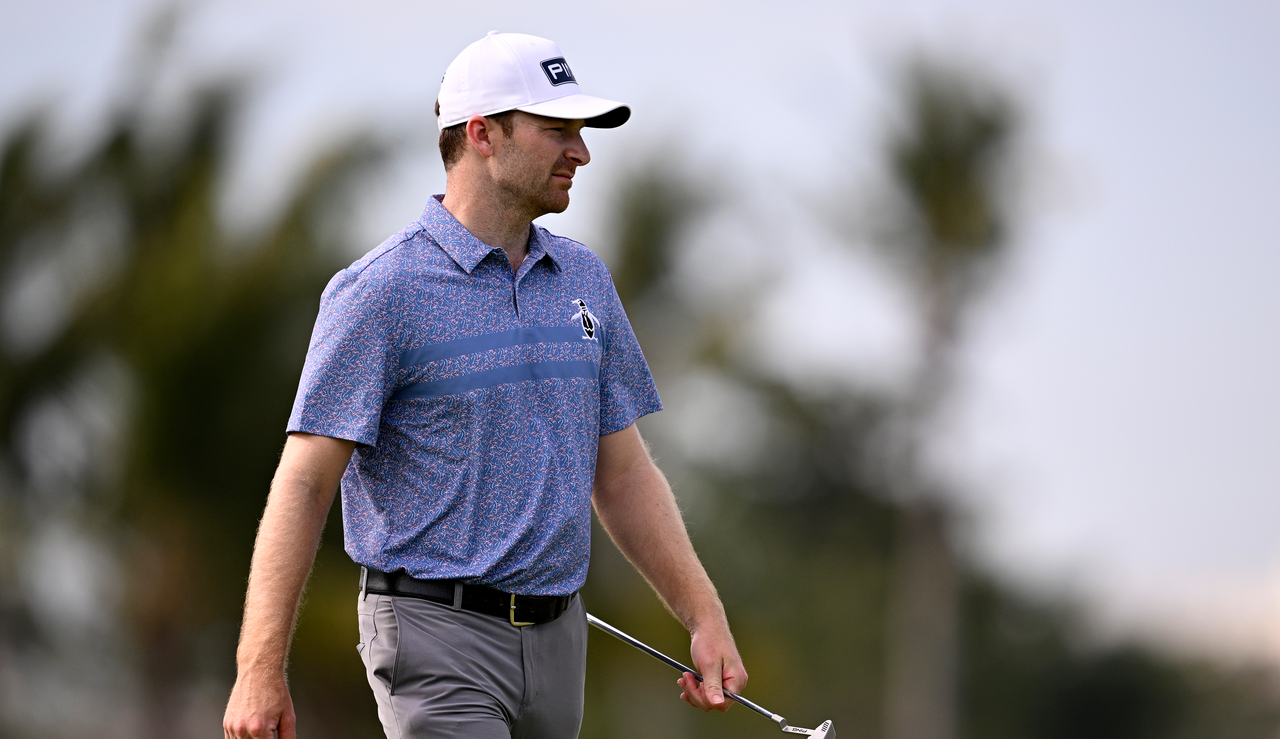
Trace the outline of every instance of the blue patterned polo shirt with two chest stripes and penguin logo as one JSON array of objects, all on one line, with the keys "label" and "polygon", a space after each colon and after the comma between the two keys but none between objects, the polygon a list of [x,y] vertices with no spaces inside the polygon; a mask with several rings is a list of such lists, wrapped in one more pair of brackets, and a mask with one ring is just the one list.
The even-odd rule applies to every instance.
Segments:
[{"label": "blue patterned polo shirt with two chest stripes and penguin logo", "polygon": [[288,430],[356,442],[356,562],[567,594],[599,437],[662,403],[595,254],[535,225],[513,274],[440,197],[329,282]]}]

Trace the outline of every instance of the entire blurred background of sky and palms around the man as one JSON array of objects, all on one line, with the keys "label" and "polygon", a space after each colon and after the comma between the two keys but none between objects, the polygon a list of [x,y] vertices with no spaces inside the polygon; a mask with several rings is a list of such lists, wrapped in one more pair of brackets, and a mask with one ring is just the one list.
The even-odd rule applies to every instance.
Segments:
[{"label": "entire blurred background of sky and palms around the man", "polygon": [[[490,29],[751,672],[884,739],[1280,734],[1280,6],[0,3],[0,736],[218,736],[329,277],[443,192]],[[1270,205],[1268,205],[1270,204]],[[333,511],[300,734],[380,736]],[[600,617],[687,638],[596,530]],[[765,736],[591,635],[582,736]]]}]

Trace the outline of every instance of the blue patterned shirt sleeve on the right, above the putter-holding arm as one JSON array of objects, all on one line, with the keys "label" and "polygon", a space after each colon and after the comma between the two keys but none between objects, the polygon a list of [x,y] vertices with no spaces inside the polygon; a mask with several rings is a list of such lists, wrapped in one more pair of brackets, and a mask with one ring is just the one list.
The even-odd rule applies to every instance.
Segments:
[{"label": "blue patterned shirt sleeve on the right, above the putter-holding arm", "polygon": [[609,279],[608,319],[600,356],[600,435],[620,432],[662,410],[649,362]]}]

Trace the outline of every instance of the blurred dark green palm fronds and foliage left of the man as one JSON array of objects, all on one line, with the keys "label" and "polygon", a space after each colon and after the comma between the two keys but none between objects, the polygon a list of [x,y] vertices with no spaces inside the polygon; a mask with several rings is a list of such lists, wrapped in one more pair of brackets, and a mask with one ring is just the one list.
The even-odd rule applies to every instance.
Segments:
[{"label": "blurred dark green palm fronds and foliage left of the man", "polygon": [[[10,693],[0,734],[210,730],[184,721],[220,713],[310,325],[349,252],[351,187],[379,159],[369,141],[330,147],[268,227],[233,236],[218,202],[243,95],[209,87],[164,117],[150,88],[70,164],[51,161],[47,117],[0,142],[0,670],[59,686],[26,706]],[[358,683],[352,639],[338,643]],[[310,662],[334,660],[324,642]],[[312,735],[360,735],[352,681],[294,669],[300,708],[328,716]],[[77,695],[110,698],[81,711]],[[61,719],[44,726],[49,704]]]}]

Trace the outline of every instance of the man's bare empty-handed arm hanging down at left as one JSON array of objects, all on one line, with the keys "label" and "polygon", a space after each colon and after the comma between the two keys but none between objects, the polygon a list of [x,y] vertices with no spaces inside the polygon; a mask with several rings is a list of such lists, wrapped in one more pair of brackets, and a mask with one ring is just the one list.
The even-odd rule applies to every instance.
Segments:
[{"label": "man's bare empty-handed arm hanging down at left", "polygon": [[294,739],[297,717],[284,678],[289,638],[320,532],[355,446],[302,433],[284,442],[253,544],[236,686],[223,716],[225,739]]}]

